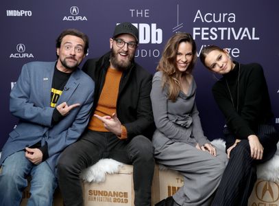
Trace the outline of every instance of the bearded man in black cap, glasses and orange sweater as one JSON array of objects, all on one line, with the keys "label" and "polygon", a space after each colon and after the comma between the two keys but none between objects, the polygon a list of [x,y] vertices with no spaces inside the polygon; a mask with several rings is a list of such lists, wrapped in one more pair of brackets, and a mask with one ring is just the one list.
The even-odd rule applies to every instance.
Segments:
[{"label": "bearded man in black cap, glasses and orange sweater", "polygon": [[134,62],[137,45],[138,29],[121,23],[110,38],[110,52],[84,64],[96,84],[93,115],[80,140],[64,150],[58,163],[64,205],[83,205],[80,172],[103,158],[132,164],[134,205],[151,205],[152,76]]}]

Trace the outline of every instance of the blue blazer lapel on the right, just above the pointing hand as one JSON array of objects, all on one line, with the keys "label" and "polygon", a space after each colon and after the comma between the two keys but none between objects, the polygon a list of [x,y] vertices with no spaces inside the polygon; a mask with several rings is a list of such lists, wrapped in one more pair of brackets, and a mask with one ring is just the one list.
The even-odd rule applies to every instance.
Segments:
[{"label": "blue blazer lapel on the right, just above the pointing hand", "polygon": [[[80,79],[80,69],[77,68],[73,73],[71,74],[68,82],[66,82],[66,85],[64,87],[64,90],[62,92],[62,95],[60,96],[56,106],[61,104],[62,102],[68,102],[68,100],[71,98],[71,95],[77,88],[77,86],[80,84],[78,80]],[[76,103],[76,102],[75,102]]]}]

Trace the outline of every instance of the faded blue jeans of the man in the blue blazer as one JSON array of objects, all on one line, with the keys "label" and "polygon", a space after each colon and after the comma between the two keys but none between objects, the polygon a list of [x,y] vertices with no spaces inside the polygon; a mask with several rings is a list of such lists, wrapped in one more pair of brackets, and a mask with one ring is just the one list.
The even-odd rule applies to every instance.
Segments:
[{"label": "faded blue jeans of the man in the blue blazer", "polygon": [[52,205],[53,192],[57,187],[56,176],[45,161],[34,165],[25,157],[24,151],[10,155],[2,164],[0,205],[20,205],[28,175],[32,176],[32,181],[27,205]]}]

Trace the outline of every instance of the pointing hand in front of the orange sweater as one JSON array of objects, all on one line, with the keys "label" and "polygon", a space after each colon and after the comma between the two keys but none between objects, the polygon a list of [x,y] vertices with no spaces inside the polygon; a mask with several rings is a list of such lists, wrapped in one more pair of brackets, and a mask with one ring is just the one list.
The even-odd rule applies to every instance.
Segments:
[{"label": "pointing hand in front of the orange sweater", "polygon": [[104,127],[109,130],[111,133],[114,133],[114,135],[121,135],[121,122],[119,121],[119,119],[117,118],[117,114],[113,113],[112,116],[104,116],[101,117],[99,115],[94,115],[95,117],[97,117],[98,119],[101,120],[101,122],[103,122]]}]

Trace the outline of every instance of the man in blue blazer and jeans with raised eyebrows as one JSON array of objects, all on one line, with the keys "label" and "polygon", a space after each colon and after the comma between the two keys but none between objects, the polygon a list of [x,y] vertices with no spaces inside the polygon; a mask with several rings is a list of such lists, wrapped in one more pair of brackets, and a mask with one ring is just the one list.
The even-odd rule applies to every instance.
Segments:
[{"label": "man in blue blazer and jeans with raised eyebrows", "polygon": [[93,105],[95,84],[77,68],[88,37],[65,30],[56,41],[56,62],[29,62],[10,93],[19,123],[2,150],[0,205],[20,205],[31,176],[28,205],[52,205],[60,153],[80,137]]}]

